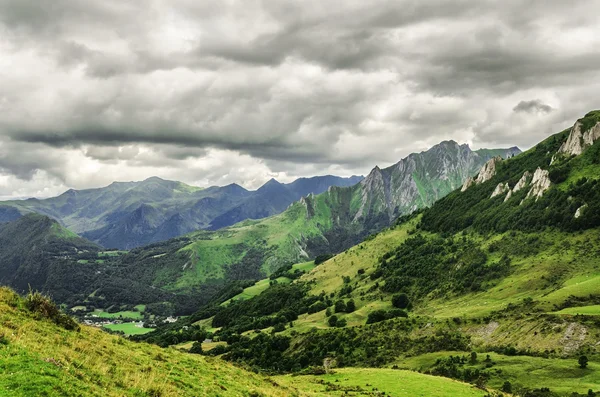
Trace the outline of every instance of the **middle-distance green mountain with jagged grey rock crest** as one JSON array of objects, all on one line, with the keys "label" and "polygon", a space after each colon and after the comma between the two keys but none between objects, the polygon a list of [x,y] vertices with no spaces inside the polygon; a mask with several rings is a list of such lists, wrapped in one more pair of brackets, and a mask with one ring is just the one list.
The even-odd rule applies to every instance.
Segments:
[{"label": "middle-distance green mountain with jagged grey rock crest", "polygon": [[[375,167],[356,185],[310,193],[278,215],[194,232],[185,236],[189,243],[167,241],[160,249],[151,248],[152,255],[144,248],[132,250],[123,257],[122,269],[178,293],[207,283],[260,279],[283,265],[341,252],[388,227],[397,216],[460,187],[494,156],[516,153],[517,148],[471,151],[467,145],[442,142],[383,170]],[[305,183],[297,182],[296,194],[310,190]],[[271,180],[254,197],[285,197],[286,190]]]}]

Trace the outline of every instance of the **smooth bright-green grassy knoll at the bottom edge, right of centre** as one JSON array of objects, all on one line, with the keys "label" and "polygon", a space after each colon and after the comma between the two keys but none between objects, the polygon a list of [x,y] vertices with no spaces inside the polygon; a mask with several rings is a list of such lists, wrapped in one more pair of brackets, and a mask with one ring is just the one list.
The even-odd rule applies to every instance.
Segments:
[{"label": "smooth bright-green grassy knoll at the bottom edge, right of centre", "polygon": [[[392,397],[483,397],[474,386],[410,371],[373,368],[341,368],[333,374],[276,376],[277,383],[301,389],[308,396],[384,395]],[[379,393],[379,394],[375,394]]]}]

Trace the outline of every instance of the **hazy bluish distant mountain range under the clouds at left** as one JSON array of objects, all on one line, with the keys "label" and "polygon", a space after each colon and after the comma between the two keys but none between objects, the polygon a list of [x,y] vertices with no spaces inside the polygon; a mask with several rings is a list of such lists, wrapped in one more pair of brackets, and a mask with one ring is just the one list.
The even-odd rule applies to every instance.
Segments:
[{"label": "hazy bluish distant mountain range under the clouds at left", "polygon": [[236,184],[201,189],[152,177],[98,189],[71,189],[45,200],[3,202],[0,222],[40,213],[104,247],[131,249],[199,229],[275,215],[302,195],[321,193],[329,186],[350,186],[361,179],[328,175],[287,185],[272,180],[248,191]]}]

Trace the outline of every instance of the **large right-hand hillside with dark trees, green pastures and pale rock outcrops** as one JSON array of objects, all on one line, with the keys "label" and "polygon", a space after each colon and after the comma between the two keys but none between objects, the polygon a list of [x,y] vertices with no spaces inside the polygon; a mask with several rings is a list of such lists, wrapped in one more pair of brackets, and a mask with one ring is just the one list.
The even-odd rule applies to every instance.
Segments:
[{"label": "large right-hand hillside with dark trees, green pastures and pale rock outcrops", "polygon": [[[597,131],[590,112],[331,259],[284,267],[140,339],[193,323],[218,329],[226,360],[266,371],[391,366],[515,396],[597,395]],[[385,171],[373,174],[363,184],[385,193]],[[263,359],[274,352],[276,364]]]}]

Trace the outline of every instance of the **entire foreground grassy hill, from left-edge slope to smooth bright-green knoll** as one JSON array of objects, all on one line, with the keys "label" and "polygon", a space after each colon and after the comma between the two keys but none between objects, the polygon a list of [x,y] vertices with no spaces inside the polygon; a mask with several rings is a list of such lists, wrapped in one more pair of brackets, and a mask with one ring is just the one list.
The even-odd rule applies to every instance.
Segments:
[{"label": "entire foreground grassy hill, from left-edge slope to smooth bright-green knoll", "polygon": [[0,288],[1,396],[372,396],[375,389],[403,397],[484,395],[464,383],[406,371],[268,378],[219,358],[134,343],[65,320],[56,324],[48,318],[49,304],[32,311],[27,300]]}]

